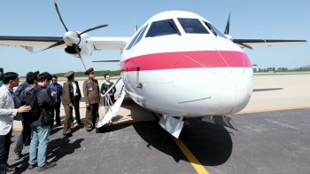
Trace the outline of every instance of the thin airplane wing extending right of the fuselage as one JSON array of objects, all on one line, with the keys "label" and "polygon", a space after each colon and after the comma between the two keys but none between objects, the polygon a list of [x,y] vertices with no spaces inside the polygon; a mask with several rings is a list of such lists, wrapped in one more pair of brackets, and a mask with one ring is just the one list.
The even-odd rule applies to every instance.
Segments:
[{"label": "thin airplane wing extending right of the fuselage", "polygon": [[251,48],[254,46],[273,46],[277,44],[302,44],[306,40],[274,40],[274,39],[233,39],[233,43],[238,44],[241,48]]}]

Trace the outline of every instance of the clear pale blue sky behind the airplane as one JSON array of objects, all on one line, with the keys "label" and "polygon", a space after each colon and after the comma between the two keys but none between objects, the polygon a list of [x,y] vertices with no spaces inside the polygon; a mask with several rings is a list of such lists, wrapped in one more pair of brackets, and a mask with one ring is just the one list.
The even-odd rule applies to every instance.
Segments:
[{"label": "clear pale blue sky behind the airplane", "polygon": [[[306,44],[244,49],[252,64],[265,67],[310,65],[310,1],[305,0],[58,0],[58,9],[69,30],[83,31],[100,24],[108,28],[90,31],[89,36],[131,37],[153,15],[171,10],[198,13],[224,32],[230,17],[229,35],[236,39],[301,39]],[[1,0],[0,36],[63,36],[52,0]],[[35,51],[41,49],[35,48]],[[93,60],[120,59],[120,51],[94,51],[84,58],[86,67],[118,70],[117,64]],[[84,71],[81,60],[61,49],[32,54],[20,47],[0,46],[0,67],[26,75],[29,71],[50,74]]]}]

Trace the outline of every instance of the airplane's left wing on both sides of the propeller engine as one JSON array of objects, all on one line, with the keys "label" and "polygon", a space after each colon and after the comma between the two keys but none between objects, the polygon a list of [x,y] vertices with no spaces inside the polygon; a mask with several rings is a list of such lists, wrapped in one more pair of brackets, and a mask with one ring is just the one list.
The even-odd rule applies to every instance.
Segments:
[{"label": "airplane's left wing on both sides of the propeller engine", "polygon": [[[0,45],[20,46],[33,52],[33,48],[47,48],[61,41],[59,36],[0,36]],[[91,37],[94,50],[123,50],[130,37]],[[54,48],[66,48],[66,44]]]}]

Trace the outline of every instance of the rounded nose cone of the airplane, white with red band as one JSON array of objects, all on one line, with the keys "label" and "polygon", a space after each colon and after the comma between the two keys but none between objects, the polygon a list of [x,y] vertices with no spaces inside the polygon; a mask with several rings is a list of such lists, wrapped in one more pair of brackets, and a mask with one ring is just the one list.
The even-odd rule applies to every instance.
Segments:
[{"label": "rounded nose cone of the airplane, white with red band", "polygon": [[217,51],[186,52],[175,64],[173,83],[179,103],[195,103],[187,112],[228,114],[235,104],[236,83]]}]

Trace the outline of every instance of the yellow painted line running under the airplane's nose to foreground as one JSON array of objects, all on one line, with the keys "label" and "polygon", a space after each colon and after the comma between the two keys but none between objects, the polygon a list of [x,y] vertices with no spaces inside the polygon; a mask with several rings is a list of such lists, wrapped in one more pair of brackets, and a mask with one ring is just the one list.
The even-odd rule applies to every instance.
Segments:
[{"label": "yellow painted line running under the airplane's nose to foreground", "polygon": [[[159,115],[158,113],[154,113],[154,114],[160,120],[161,115]],[[174,136],[171,136],[171,137],[174,139],[174,142],[176,143],[176,145],[179,146],[182,153],[187,157],[187,159],[189,160],[191,165],[194,167],[194,169],[198,173],[209,174],[209,172],[207,170],[205,170],[205,167],[203,165],[201,165],[200,162],[198,162],[198,159],[194,156],[194,154],[192,154],[190,152],[190,149],[187,146],[185,146],[185,144],[182,142],[181,139],[174,138]]]}]

